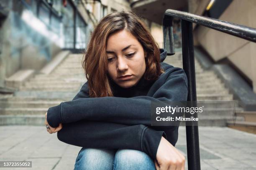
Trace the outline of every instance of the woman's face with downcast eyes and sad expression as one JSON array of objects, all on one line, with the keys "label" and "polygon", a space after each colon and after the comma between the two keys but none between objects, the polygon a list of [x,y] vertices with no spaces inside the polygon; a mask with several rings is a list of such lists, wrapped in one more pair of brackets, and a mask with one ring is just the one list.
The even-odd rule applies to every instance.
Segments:
[{"label": "woman's face with downcast eyes and sad expression", "polygon": [[123,88],[136,85],[146,70],[146,55],[136,37],[126,30],[115,32],[108,38],[106,52],[112,80]]}]

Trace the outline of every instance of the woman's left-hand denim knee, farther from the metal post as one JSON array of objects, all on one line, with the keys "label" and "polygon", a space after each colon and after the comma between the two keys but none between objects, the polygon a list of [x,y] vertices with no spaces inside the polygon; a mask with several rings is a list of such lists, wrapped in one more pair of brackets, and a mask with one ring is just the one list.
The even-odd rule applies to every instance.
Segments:
[{"label": "woman's left-hand denim knee, farther from the metal post", "polygon": [[77,155],[74,170],[112,170],[115,150],[82,148]]}]

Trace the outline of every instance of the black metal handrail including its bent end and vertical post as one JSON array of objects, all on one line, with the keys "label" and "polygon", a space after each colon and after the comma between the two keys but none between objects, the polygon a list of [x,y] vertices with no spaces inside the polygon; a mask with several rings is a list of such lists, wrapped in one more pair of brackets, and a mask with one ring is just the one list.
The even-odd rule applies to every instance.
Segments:
[{"label": "black metal handrail including its bent end and vertical post", "polygon": [[[236,37],[243,38],[252,42],[256,42],[256,29],[237,25],[222,20],[217,20],[209,17],[203,17],[191,13],[186,13],[178,10],[168,9],[164,13],[163,31],[164,31],[164,48],[168,55],[174,55],[174,39],[172,32],[173,18],[181,19],[182,25],[182,63],[183,69],[188,80],[188,101],[197,101],[196,81],[195,81],[195,58],[194,58],[194,43],[193,43],[193,26],[192,23],[203,25],[205,27],[225,32]],[[196,107],[196,102],[192,102],[190,107]],[[189,113],[185,114],[190,117]],[[197,117],[197,113],[193,115]],[[189,122],[191,123],[191,122]],[[187,160],[189,170],[200,170],[200,151],[197,122],[192,122],[192,125],[186,124],[187,136]]]}]

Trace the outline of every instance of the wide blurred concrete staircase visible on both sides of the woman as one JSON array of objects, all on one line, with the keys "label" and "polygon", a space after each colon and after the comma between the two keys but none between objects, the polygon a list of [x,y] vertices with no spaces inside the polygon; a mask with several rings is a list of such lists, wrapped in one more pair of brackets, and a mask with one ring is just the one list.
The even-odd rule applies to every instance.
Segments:
[{"label": "wide blurred concrete staircase visible on both sides of the woman", "polygon": [[[14,96],[2,98],[0,125],[44,125],[48,108],[72,100],[86,82],[81,61],[81,54],[70,54],[50,74],[37,74]],[[182,67],[181,52],[167,56],[164,62]],[[233,121],[234,108],[240,112],[242,108],[213,71],[202,69],[197,60],[195,67],[197,100],[207,101],[207,112],[198,114],[199,125],[226,126],[227,121]]]}]

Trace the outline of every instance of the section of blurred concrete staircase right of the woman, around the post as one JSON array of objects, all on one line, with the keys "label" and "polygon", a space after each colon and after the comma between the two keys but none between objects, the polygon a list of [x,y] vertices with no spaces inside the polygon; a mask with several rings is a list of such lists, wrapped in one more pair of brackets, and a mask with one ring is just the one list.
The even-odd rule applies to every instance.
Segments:
[{"label": "section of blurred concrete staircase right of the woman, around the post", "polygon": [[[174,67],[182,68],[182,52],[167,56],[164,62]],[[204,105],[203,112],[198,113],[199,125],[226,126],[227,122],[243,121],[243,109],[238,106],[238,101],[233,100],[233,95],[224,83],[212,70],[204,70],[195,57],[197,105]]]}]

